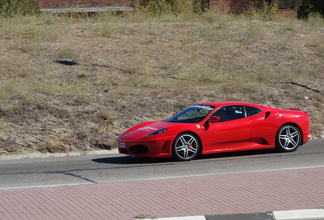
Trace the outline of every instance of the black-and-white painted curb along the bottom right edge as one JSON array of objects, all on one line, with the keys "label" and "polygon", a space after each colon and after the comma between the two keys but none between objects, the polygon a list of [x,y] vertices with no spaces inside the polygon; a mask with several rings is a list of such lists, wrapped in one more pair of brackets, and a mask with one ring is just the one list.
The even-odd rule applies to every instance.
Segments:
[{"label": "black-and-white painted curb along the bottom right edge", "polygon": [[[143,220],[149,220],[145,218]],[[324,220],[324,209],[302,209],[289,211],[268,211],[256,213],[198,215],[184,217],[165,217],[156,220]]]}]

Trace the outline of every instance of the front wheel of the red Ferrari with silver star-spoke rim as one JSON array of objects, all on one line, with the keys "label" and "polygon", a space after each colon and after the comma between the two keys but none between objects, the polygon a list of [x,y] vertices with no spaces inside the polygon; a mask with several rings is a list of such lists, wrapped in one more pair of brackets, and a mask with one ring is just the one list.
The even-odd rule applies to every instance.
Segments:
[{"label": "front wheel of the red Ferrari with silver star-spoke rim", "polygon": [[172,144],[172,156],[180,161],[194,159],[199,153],[199,142],[191,133],[181,133]]}]

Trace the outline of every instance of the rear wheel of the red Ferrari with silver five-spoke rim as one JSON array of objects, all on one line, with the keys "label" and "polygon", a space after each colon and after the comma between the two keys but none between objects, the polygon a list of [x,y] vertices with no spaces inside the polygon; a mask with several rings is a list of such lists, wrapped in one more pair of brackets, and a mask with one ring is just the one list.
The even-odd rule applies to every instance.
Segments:
[{"label": "rear wheel of the red Ferrari with silver five-spoke rim", "polygon": [[276,134],[276,149],[281,152],[292,152],[301,145],[301,131],[291,124],[281,126]]}]

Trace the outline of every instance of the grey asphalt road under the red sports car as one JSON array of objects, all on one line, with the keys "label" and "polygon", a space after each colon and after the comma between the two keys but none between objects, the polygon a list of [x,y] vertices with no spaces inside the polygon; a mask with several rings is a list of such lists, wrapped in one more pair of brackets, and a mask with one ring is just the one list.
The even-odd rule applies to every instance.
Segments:
[{"label": "grey asphalt road under the red sports car", "polygon": [[257,150],[200,155],[188,162],[100,154],[0,160],[0,190],[324,166],[324,139],[291,153]]}]

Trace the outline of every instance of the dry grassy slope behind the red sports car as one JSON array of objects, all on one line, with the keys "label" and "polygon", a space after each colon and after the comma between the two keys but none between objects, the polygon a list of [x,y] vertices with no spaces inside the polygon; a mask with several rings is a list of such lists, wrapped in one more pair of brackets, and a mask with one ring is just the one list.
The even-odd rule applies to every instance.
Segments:
[{"label": "dry grassy slope behind the red sports car", "polygon": [[0,45],[0,155],[116,148],[130,126],[217,100],[300,108],[324,137],[316,17],[43,14],[0,18]]}]

